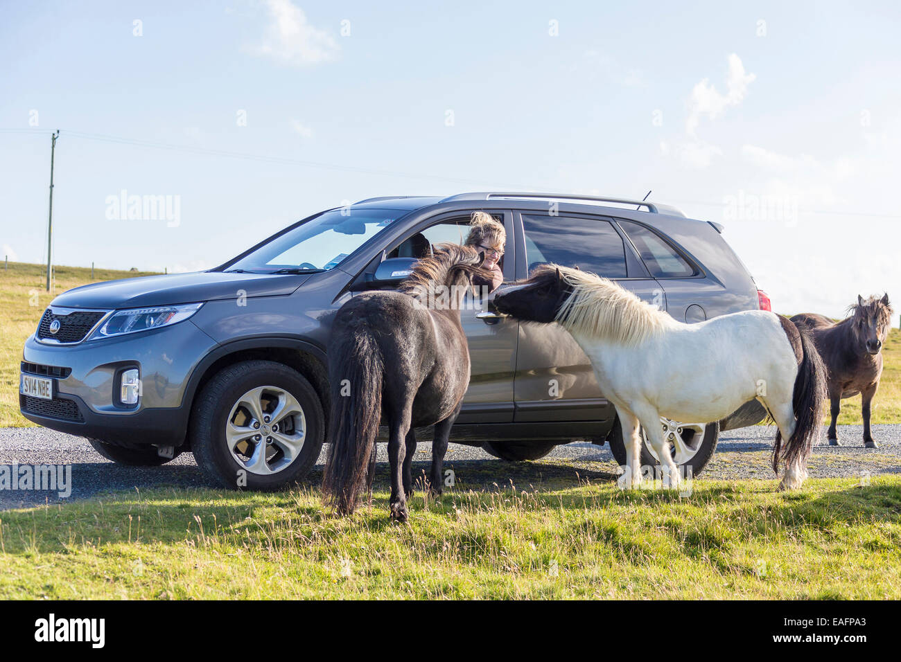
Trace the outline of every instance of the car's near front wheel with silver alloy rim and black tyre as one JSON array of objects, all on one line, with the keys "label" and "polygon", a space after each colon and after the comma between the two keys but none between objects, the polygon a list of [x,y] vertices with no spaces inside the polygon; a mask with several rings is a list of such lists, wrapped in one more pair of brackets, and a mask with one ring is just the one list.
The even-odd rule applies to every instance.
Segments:
[{"label": "car's near front wheel with silver alloy rim and black tyre", "polygon": [[[278,419],[278,407],[289,402],[289,398],[293,398],[299,413]],[[251,411],[255,408],[259,410],[256,415]],[[267,412],[273,415],[271,422]],[[257,416],[266,423],[257,421]],[[256,430],[259,435],[250,430],[255,422],[259,423]],[[284,424],[283,429],[276,431],[278,424]],[[226,434],[227,427],[232,432],[231,440]],[[288,429],[293,430],[292,435],[286,435]],[[232,445],[244,431],[249,431],[251,436]],[[254,440],[264,433],[271,433],[267,439],[273,443]],[[325,418],[319,394],[305,376],[281,363],[250,360],[223,368],[204,386],[192,409],[190,434],[197,466],[210,483],[230,489],[270,492],[303,480],[314,467],[323,448]],[[287,445],[281,441],[284,438],[302,438],[302,441]],[[270,452],[272,456],[268,459]]]}]

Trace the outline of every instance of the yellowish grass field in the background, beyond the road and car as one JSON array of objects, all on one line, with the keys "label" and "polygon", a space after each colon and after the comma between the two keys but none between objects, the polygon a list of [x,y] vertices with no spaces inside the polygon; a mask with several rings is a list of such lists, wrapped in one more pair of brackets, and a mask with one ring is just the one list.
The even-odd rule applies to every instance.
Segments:
[{"label": "yellowish grass field in the background, beyond the road and car", "polygon": [[[8,271],[0,269],[0,427],[32,425],[19,413],[19,362],[25,339],[37,327],[53,296],[91,282],[150,276],[144,272],[97,269],[92,281],[90,269],[57,267],[53,293],[48,293],[44,289],[44,273],[41,265],[22,263],[10,263]],[[873,401],[872,422],[901,423],[901,331],[891,331],[883,360],[885,368]],[[825,414],[828,416],[828,407]],[[839,424],[860,422],[860,396],[843,400]]]}]

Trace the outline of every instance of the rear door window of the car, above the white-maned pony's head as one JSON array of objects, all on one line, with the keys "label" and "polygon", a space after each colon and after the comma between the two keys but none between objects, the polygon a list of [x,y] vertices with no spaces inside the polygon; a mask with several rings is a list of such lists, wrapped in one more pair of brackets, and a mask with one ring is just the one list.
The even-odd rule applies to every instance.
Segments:
[{"label": "rear door window of the car, above the white-maned pony's head", "polygon": [[523,213],[523,230],[530,273],[553,262],[606,278],[626,277],[623,240],[609,221]]}]

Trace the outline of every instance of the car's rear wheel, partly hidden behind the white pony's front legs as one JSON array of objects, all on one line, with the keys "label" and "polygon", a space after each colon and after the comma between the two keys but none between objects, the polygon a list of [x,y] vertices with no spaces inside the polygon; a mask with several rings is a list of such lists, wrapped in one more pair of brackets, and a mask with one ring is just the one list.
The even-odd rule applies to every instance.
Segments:
[{"label": "car's rear wheel, partly hidden behind the white pony's front legs", "polygon": [[[667,440],[669,455],[678,467],[691,467],[692,476],[698,476],[710,459],[714,457],[716,442],[719,440],[719,423],[680,423],[660,418],[660,427],[664,438]],[[651,447],[648,435],[644,428],[642,433],[642,466],[659,467],[660,458]],[[625,466],[625,443],[623,442],[623,426],[619,420],[614,422],[614,428],[608,438],[610,452],[613,453],[616,464]]]}]

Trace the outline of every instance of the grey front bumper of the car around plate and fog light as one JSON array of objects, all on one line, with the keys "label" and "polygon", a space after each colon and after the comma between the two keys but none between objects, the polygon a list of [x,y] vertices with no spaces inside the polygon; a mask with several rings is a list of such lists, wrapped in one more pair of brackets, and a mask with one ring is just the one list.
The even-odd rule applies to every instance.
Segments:
[{"label": "grey front bumper of the car around plate and fog light", "polygon": [[[64,368],[65,376],[55,378],[54,401],[20,395],[20,409],[29,421],[81,437],[180,446],[191,406],[184,402],[188,378],[216,344],[190,320],[67,346],[42,344],[32,335],[23,349],[23,362],[31,365],[23,370],[53,377],[60,372],[46,367]],[[128,367],[140,370],[136,407],[118,404],[118,377]]]}]

